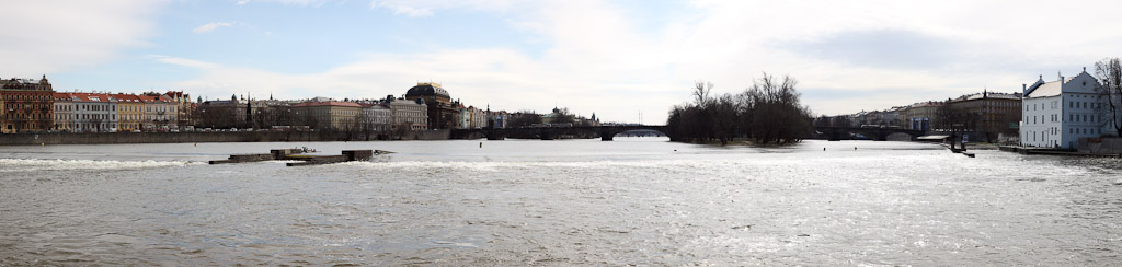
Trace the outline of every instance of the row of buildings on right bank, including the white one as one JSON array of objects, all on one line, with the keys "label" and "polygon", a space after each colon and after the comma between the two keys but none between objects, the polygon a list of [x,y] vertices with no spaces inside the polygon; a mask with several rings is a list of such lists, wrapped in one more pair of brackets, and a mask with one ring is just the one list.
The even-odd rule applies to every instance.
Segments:
[{"label": "row of buildings on right bank, including the white one", "polygon": [[[1113,95],[1113,96],[1112,96]],[[929,132],[964,130],[971,141],[1008,141],[1022,146],[1077,148],[1080,138],[1119,136],[1122,99],[1104,92],[1097,79],[1083,72],[1056,81],[1043,75],[1017,93],[967,94],[884,111],[819,118],[821,125],[882,127]]]}]

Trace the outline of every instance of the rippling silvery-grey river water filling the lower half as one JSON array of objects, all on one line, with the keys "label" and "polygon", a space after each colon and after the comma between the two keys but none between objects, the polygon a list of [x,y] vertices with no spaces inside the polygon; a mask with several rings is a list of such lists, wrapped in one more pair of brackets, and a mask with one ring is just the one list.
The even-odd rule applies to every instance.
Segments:
[{"label": "rippling silvery-grey river water filling the lower half", "polygon": [[[396,154],[204,163],[305,146]],[[0,147],[0,265],[1122,263],[1122,159],[976,153],[657,138]]]}]

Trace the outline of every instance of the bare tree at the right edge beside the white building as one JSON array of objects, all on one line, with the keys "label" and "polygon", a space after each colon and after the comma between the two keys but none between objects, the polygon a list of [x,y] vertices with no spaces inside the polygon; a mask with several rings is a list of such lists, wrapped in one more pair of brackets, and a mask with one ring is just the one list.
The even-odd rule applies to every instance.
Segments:
[{"label": "bare tree at the right edge beside the white building", "polygon": [[1107,57],[1095,63],[1095,75],[1098,76],[1098,91],[1105,98],[1105,105],[1100,105],[1101,114],[1105,114],[1114,132],[1122,135],[1122,61]]}]

